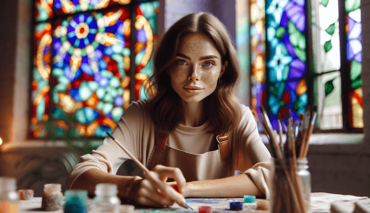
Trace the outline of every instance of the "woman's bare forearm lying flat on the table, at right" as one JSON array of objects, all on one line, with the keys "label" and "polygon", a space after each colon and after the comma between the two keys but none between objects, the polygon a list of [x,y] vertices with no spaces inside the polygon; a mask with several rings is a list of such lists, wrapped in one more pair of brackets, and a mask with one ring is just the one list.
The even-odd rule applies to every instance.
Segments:
[{"label": "woman's bare forearm lying flat on the table, at right", "polygon": [[265,196],[246,174],[216,180],[189,182],[186,184],[184,192],[185,197],[192,198],[235,198],[244,195]]}]

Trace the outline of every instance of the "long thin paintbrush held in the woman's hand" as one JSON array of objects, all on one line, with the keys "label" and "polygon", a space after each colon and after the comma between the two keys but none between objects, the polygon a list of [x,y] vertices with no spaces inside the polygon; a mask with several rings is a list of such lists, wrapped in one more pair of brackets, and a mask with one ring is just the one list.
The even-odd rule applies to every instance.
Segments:
[{"label": "long thin paintbrush held in the woman's hand", "polygon": [[[168,185],[167,184],[165,184],[163,181],[161,181],[161,180],[159,180],[157,177],[155,177],[155,176],[153,176],[152,175],[152,173],[149,171],[149,169],[147,169],[139,160],[137,160],[136,158],[135,158],[135,156],[133,156],[133,154],[132,153],[130,153],[130,151],[128,151],[117,139],[115,139],[114,137],[113,137],[113,135],[112,134],[110,134],[109,132],[107,132],[107,134],[109,135],[109,137],[110,138],[112,138],[113,139],[113,141],[114,142],[116,142],[117,143],[117,145],[119,146],[119,147],[121,147],[122,149],[123,149],[123,151],[125,151],[126,152],[126,154],[128,154],[128,156],[130,156],[130,158],[141,168],[141,170],[144,172],[144,176],[146,177],[146,178],[149,178],[149,179],[151,179],[152,181],[154,181],[156,184],[157,184],[157,186],[159,187],[159,189],[161,189],[161,190],[164,190],[165,188],[167,188],[168,187]],[[170,195],[171,195],[171,197],[175,197],[176,196],[176,193],[178,193],[174,188],[172,188],[172,187],[169,187],[168,188],[169,190],[167,190],[169,193],[170,193]],[[184,203],[184,204],[182,204],[181,202],[176,202],[177,204],[179,204],[180,206],[182,206],[182,207],[184,207],[184,208],[190,208],[190,209],[192,209],[192,210],[194,210],[193,208],[191,208],[187,203],[186,203],[186,200],[185,200],[185,198],[182,200],[182,203]]]}]

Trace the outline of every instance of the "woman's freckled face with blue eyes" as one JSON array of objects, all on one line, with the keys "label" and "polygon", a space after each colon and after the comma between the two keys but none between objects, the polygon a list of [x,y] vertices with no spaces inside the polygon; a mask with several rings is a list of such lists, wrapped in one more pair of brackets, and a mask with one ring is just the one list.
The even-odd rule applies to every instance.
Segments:
[{"label": "woman's freckled face with blue eyes", "polygon": [[184,101],[199,102],[216,89],[226,66],[208,35],[187,33],[180,40],[175,64],[168,70],[171,86]]}]

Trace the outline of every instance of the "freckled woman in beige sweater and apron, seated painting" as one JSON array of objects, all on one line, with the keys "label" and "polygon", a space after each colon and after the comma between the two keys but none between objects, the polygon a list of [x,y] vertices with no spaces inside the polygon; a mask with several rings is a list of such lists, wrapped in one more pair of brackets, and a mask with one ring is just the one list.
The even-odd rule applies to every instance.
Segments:
[{"label": "freckled woman in beige sweater and apron, seated painting", "polygon": [[155,207],[184,197],[268,198],[271,156],[251,110],[233,94],[239,68],[225,26],[208,13],[184,16],[157,45],[154,68],[154,96],[133,102],[112,134],[162,181],[173,179],[168,185],[179,193],[145,176],[116,176],[130,157],[109,138],[81,157],[67,187],[94,195],[97,183],[115,183],[121,198]]}]

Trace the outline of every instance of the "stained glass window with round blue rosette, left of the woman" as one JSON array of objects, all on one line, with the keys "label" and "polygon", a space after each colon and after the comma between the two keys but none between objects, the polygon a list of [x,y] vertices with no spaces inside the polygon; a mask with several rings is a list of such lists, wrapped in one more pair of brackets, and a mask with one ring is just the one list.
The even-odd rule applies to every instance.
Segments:
[{"label": "stained glass window with round blue rosette, left of the woman", "polygon": [[31,138],[105,137],[131,101],[147,97],[158,1],[34,4]]}]

